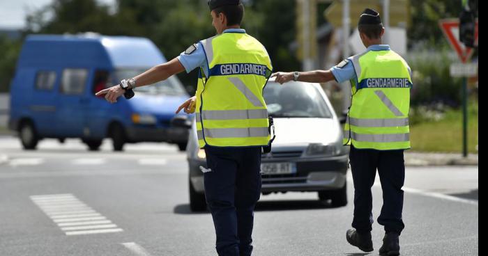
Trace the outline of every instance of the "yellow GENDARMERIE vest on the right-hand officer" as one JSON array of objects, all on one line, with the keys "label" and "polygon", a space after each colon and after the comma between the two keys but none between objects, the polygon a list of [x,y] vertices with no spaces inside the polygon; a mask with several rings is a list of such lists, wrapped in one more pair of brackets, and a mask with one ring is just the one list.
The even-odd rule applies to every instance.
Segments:
[{"label": "yellow GENDARMERIE vest on the right-hand officer", "polygon": [[395,51],[366,51],[349,58],[354,65],[351,109],[344,144],[374,150],[410,148],[411,70]]}]

